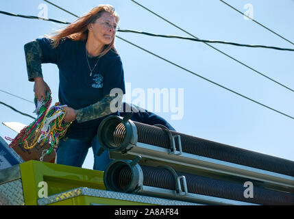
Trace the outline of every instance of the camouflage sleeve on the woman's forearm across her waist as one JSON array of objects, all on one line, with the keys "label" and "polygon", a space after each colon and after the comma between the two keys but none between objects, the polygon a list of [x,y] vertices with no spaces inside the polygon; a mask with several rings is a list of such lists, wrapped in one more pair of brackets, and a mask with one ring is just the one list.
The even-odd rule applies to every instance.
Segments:
[{"label": "camouflage sleeve on the woman's forearm across her waist", "polygon": [[83,123],[88,120],[93,120],[95,118],[100,118],[107,116],[119,110],[121,103],[123,102],[123,94],[118,94],[117,96],[106,95],[93,105],[84,107],[80,110],[75,110],[75,119],[77,123]]}]

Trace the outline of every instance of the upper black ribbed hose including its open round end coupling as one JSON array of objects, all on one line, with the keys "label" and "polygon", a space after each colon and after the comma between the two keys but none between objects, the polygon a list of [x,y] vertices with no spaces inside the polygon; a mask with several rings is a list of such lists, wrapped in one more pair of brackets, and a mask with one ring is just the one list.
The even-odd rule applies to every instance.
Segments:
[{"label": "upper black ribbed hose including its open round end coupling", "polygon": [[[188,136],[176,131],[170,132],[172,136],[180,136],[182,151],[184,153],[210,157],[224,162],[294,177],[293,161],[241,149],[228,144]],[[122,148],[130,149],[137,142],[171,149],[169,135],[167,135],[164,129],[143,123],[123,122],[118,116],[110,116],[104,119],[99,126],[98,136],[101,146],[110,151],[121,150]],[[179,150],[177,142],[175,142],[175,147]]]}]

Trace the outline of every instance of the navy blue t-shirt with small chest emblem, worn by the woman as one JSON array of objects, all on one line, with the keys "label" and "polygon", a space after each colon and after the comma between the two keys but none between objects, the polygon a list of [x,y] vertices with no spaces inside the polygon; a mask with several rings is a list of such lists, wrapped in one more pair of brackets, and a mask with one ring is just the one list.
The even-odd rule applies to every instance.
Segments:
[{"label": "navy blue t-shirt with small chest emblem, worn by the woman", "polygon": [[[57,64],[59,68],[58,97],[62,105],[75,110],[82,109],[101,101],[103,96],[110,94],[112,88],[120,88],[125,94],[123,64],[114,49],[100,57],[98,62],[97,57],[88,57],[87,61],[86,40],[62,40],[55,49],[52,48],[52,40],[48,38],[37,41],[42,50],[41,62]],[[97,63],[92,75],[88,62],[91,69]],[[75,139],[93,138],[103,118],[84,123],[77,123],[75,120],[66,136]]]}]

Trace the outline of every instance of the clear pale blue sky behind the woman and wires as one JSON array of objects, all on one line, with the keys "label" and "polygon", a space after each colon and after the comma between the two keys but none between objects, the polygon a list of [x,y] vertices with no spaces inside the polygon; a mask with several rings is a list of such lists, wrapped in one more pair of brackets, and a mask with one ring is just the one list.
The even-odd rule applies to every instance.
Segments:
[{"label": "clear pale blue sky behind the woman and wires", "polygon": [[[186,36],[187,34],[162,21],[130,0],[77,1],[52,0],[62,8],[81,16],[97,6],[114,5],[120,16],[121,29],[136,29],[154,34]],[[244,5],[253,6],[256,21],[294,41],[294,1],[283,0],[227,0],[242,12]],[[0,1],[0,10],[16,14],[38,16],[45,1]],[[265,44],[294,48],[218,0],[138,0],[138,3],[160,14],[191,34],[206,40],[223,40],[243,44]],[[62,21],[75,21],[75,17],[47,4],[48,17]],[[48,21],[29,20],[0,14],[1,17],[1,80],[0,89],[34,100],[34,83],[27,81],[23,46],[26,42],[51,34],[63,25]],[[154,38],[138,34],[117,32],[140,47],[148,49],[171,62],[221,84],[255,101],[268,105],[289,116],[294,116],[294,94],[253,70],[238,64],[201,42],[178,39]],[[270,49],[252,49],[224,44],[212,44],[228,55],[240,60],[260,73],[294,89],[294,52]],[[116,39],[116,47],[123,60],[125,82],[132,90],[148,88],[184,89],[184,116],[171,120],[172,112],[160,116],[181,133],[205,138],[243,149],[294,160],[294,120],[219,88],[208,81],[159,60],[158,58]],[[53,103],[58,101],[58,68],[53,64],[42,65],[45,81],[49,84]],[[177,92],[176,92],[177,93]],[[132,100],[136,96],[132,97]],[[0,91],[0,101],[32,114],[34,104]],[[178,101],[178,100],[177,100]],[[178,102],[177,102],[178,103]],[[16,121],[28,125],[31,118],[0,105],[0,122]],[[14,138],[16,133],[0,125],[0,136]],[[92,168],[93,153],[89,151],[84,168]]]}]

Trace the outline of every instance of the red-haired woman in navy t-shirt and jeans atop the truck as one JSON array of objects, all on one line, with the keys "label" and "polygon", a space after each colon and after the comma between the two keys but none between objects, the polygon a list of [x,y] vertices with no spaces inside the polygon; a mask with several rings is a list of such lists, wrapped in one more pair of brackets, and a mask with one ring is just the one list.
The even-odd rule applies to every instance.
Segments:
[{"label": "red-haired woman in navy t-shirt and jeans atop the truck", "polygon": [[[123,65],[114,48],[118,23],[112,5],[99,5],[55,36],[25,44],[27,74],[29,81],[34,81],[39,101],[50,91],[42,78],[41,63],[59,68],[59,101],[67,105],[64,120],[73,123],[60,140],[58,164],[82,167],[90,146],[96,155],[97,128],[103,117],[114,112],[110,103],[115,101],[117,109],[121,105],[125,94]],[[113,88],[121,93],[111,96]],[[108,153],[94,157],[94,170],[104,170],[110,162]]]}]

